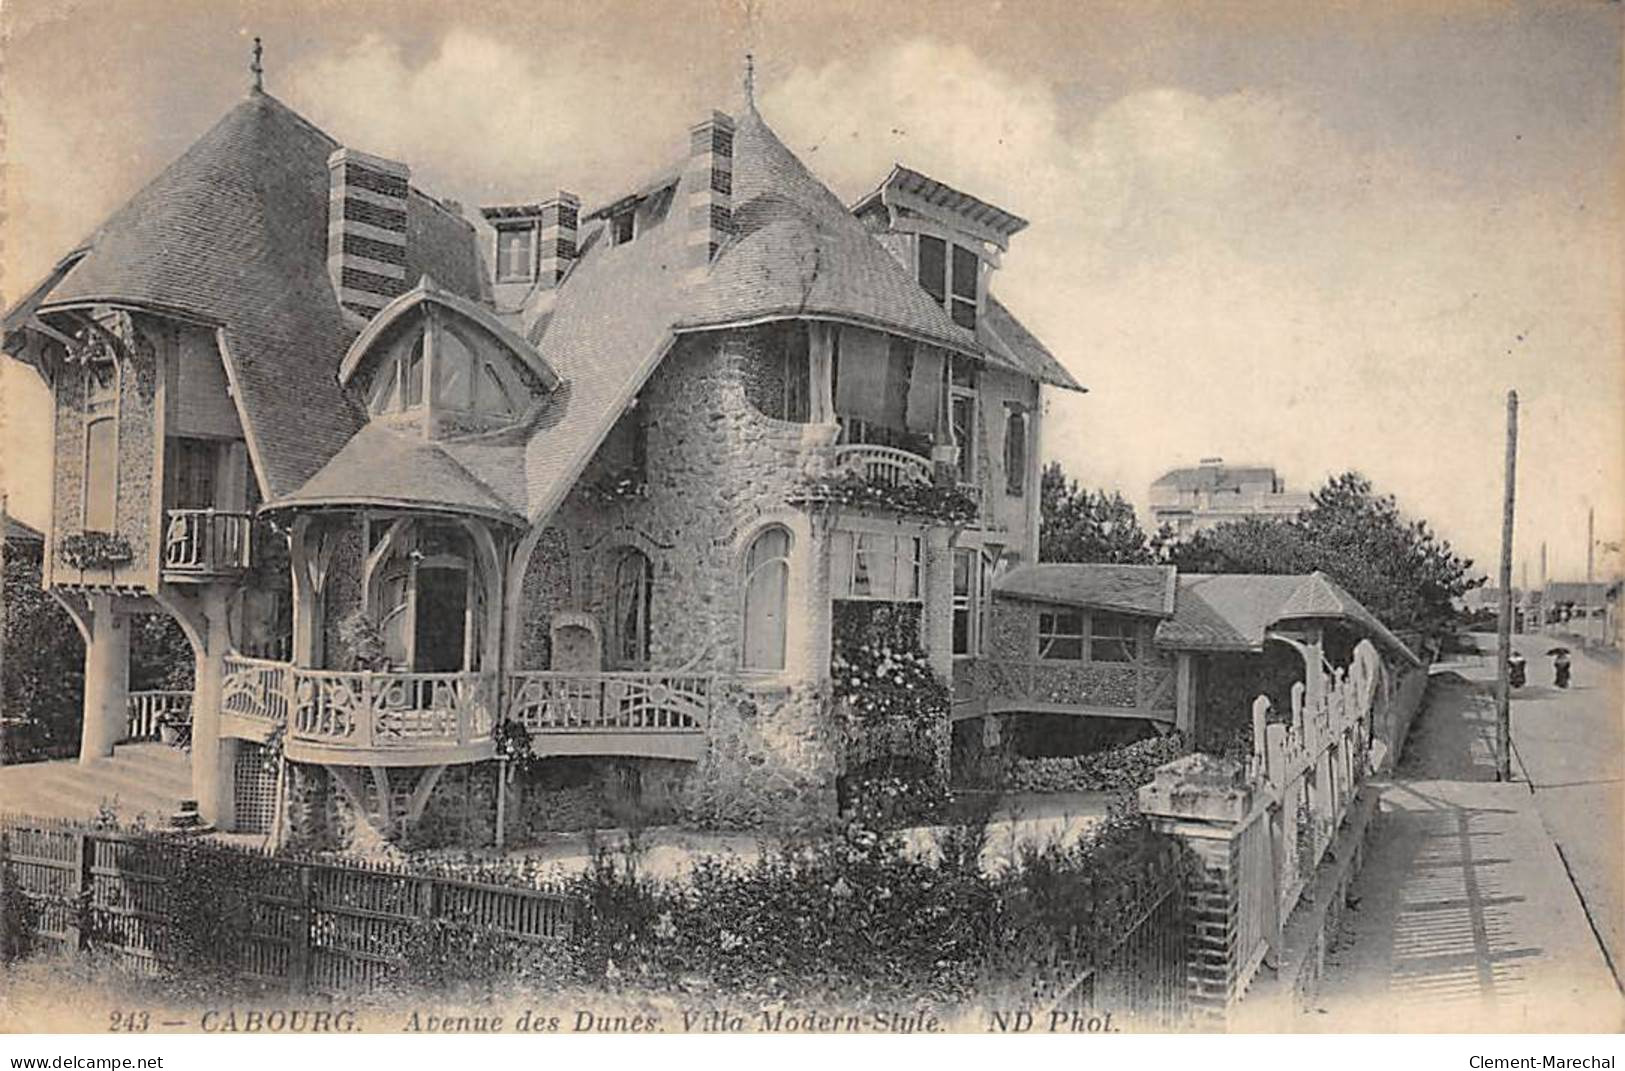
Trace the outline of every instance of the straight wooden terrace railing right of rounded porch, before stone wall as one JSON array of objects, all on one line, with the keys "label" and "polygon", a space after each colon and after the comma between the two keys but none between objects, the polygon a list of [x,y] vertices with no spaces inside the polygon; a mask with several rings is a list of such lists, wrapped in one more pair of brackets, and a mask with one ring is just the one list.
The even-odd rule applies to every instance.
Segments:
[{"label": "straight wooden terrace railing right of rounded porch, before stone wall", "polygon": [[704,733],[717,678],[705,673],[509,676],[507,717],[536,733]]}]

